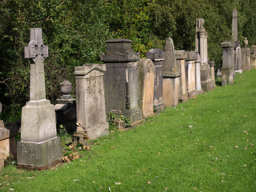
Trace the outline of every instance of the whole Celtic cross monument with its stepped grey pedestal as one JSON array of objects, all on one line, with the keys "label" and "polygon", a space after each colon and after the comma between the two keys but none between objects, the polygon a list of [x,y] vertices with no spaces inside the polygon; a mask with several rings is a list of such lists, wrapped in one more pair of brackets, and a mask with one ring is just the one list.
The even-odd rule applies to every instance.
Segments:
[{"label": "whole Celtic cross monument with its stepped grey pedestal", "polygon": [[42,29],[30,29],[30,43],[25,46],[25,58],[30,65],[30,101],[22,107],[21,141],[18,142],[18,166],[44,168],[62,158],[62,147],[57,137],[54,105],[46,99],[44,58],[48,46],[42,42]]}]

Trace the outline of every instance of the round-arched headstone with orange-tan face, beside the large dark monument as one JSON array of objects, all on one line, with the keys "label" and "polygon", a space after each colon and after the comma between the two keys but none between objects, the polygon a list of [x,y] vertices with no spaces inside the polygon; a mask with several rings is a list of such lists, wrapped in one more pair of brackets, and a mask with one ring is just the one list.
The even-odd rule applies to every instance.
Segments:
[{"label": "round-arched headstone with orange-tan face, beside the large dark monument", "polygon": [[154,114],[154,63],[151,59],[138,60],[138,95],[143,118]]}]

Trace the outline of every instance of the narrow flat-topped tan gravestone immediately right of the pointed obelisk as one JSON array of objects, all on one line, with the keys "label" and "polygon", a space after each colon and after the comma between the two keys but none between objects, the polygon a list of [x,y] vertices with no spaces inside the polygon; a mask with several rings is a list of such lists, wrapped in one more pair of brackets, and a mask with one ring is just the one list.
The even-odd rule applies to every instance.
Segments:
[{"label": "narrow flat-topped tan gravestone immediately right of the pointed obelisk", "polygon": [[175,50],[175,58],[177,65],[180,66],[181,76],[179,76],[178,102],[186,102],[188,100],[186,90],[186,51]]}]

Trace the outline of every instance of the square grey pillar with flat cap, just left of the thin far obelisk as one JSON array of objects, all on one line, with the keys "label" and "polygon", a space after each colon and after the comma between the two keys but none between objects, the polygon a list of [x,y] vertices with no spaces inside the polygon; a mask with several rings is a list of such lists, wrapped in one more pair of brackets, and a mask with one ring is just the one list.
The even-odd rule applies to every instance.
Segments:
[{"label": "square grey pillar with flat cap, just left of the thin far obelisk", "polygon": [[234,48],[231,42],[222,42],[222,86],[233,83]]}]

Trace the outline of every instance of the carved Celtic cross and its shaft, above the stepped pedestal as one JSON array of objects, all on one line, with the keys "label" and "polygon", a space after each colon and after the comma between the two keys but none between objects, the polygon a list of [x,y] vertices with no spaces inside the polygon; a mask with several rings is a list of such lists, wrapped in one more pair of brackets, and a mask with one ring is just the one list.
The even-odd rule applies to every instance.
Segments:
[{"label": "carved Celtic cross and its shaft, above the stepped pedestal", "polygon": [[25,58],[32,58],[30,66],[30,101],[46,99],[43,61],[48,57],[48,46],[42,42],[42,29],[30,29],[30,43],[25,46]]}]

